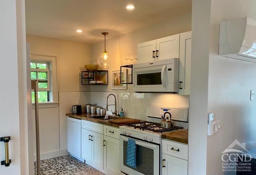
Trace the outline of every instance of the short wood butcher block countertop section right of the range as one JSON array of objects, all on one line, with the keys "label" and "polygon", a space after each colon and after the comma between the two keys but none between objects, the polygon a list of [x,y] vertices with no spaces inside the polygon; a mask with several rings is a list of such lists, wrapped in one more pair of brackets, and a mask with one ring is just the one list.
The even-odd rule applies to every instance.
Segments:
[{"label": "short wood butcher block countertop section right of the range", "polygon": [[182,144],[188,144],[188,130],[181,130],[162,134],[162,138],[175,142],[180,142]]}]

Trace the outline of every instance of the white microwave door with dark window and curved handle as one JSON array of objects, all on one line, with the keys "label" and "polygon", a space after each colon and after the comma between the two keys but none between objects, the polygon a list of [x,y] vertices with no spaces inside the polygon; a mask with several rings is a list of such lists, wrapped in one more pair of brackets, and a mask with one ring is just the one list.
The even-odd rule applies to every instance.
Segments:
[{"label": "white microwave door with dark window and curved handle", "polygon": [[165,60],[136,64],[134,65],[134,91],[165,92],[166,76]]}]

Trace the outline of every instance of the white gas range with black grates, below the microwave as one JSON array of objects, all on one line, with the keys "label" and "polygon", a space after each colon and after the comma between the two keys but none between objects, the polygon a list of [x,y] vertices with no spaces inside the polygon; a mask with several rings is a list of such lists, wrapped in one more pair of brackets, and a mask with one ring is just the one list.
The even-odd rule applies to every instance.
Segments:
[{"label": "white gas range with black grates, below the microwave", "polygon": [[[160,118],[170,112],[175,121],[172,129],[162,128]],[[188,128],[188,108],[148,106],[147,121],[120,126],[120,171],[128,175],[160,175],[162,134]],[[136,167],[126,164],[128,139],[136,143]]]}]

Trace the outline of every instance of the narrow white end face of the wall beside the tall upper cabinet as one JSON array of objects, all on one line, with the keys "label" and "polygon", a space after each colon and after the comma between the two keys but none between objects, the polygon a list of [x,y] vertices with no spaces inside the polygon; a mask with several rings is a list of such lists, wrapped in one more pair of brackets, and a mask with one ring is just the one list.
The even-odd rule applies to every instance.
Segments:
[{"label": "narrow white end face of the wall beside the tall upper cabinet", "polygon": [[210,0],[192,2],[188,174],[206,173]]}]

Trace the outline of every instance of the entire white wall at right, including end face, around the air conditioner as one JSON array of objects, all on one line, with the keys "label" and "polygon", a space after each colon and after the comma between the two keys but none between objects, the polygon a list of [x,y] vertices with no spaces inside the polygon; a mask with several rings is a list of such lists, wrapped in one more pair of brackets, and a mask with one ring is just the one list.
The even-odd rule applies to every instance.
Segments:
[{"label": "entire white wall at right, including end face, around the air conditioner", "polygon": [[[255,148],[256,64],[218,55],[219,23],[249,16],[254,0],[194,0],[192,3],[192,77],[188,173],[225,175],[222,151],[235,139]],[[207,136],[208,113],[220,120],[220,133]],[[205,157],[205,155],[207,155]]]}]

